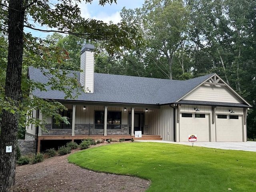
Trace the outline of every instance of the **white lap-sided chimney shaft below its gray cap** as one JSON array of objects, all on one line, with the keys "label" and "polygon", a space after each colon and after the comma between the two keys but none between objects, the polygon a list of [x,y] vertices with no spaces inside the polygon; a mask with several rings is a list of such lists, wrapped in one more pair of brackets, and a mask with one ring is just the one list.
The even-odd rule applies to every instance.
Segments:
[{"label": "white lap-sided chimney shaft below its gray cap", "polygon": [[[94,52],[85,51],[80,58],[80,83],[85,92],[94,92]],[[87,90],[88,88],[88,90]]]}]

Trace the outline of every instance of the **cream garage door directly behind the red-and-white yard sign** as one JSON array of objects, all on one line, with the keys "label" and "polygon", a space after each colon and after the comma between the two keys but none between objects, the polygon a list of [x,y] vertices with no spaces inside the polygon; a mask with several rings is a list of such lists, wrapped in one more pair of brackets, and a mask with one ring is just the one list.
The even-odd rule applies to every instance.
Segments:
[{"label": "cream garage door directly behind the red-and-white yard sign", "polygon": [[180,141],[188,141],[189,134],[197,134],[197,141],[209,141],[209,114],[180,114]]}]

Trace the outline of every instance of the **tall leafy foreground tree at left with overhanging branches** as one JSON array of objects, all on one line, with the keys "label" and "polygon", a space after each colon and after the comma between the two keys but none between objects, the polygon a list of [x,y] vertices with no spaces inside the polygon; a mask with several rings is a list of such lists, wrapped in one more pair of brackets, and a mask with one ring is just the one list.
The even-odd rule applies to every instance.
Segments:
[{"label": "tall leafy foreground tree at left with overhanging branches", "polygon": [[[85,0],[86,3],[92,0]],[[100,0],[99,3],[116,2],[116,0]],[[68,33],[92,40],[104,40],[105,48],[108,52],[114,53],[120,46],[132,48],[134,39],[138,37],[135,28],[127,27],[124,23],[117,25],[105,24],[101,21],[84,19],[80,16],[79,0],[57,0],[54,3],[48,0],[2,0],[0,3],[0,26],[2,32],[8,36],[8,58],[6,67],[6,80],[4,84],[4,94],[1,100],[7,106],[2,108],[2,128],[0,135],[0,192],[14,191],[15,167],[16,167],[16,144],[17,130],[20,120],[24,120],[24,109],[22,108],[22,90],[28,90],[28,85],[32,88],[45,90],[44,85],[34,84],[27,81],[27,87],[22,88],[22,62],[26,64],[29,58],[37,57],[41,60],[48,59],[48,62],[37,64],[40,67],[46,65],[49,68],[48,75],[54,75],[57,70],[51,68],[50,47],[45,47],[40,39],[32,38],[31,35],[24,36],[24,26],[34,30],[46,31],[34,28],[32,23],[46,25],[48,28],[56,28],[62,33]],[[39,45],[41,44],[41,45]],[[26,48],[26,50],[24,50]],[[58,49],[55,49],[58,52]],[[24,55],[23,57],[23,54]],[[64,56],[65,53],[62,53]],[[57,54],[55,55],[57,58]],[[32,59],[30,60],[32,61]],[[39,60],[38,60],[39,61]],[[61,60],[57,60],[61,62]],[[36,66],[35,62],[31,62]],[[46,74],[47,72],[44,72]],[[67,72],[57,74],[57,79],[62,79]],[[52,78],[48,84],[58,84],[58,80]],[[70,85],[76,86],[73,80]],[[47,85],[47,84],[46,84]],[[53,86],[65,91],[65,85]],[[66,92],[67,97],[72,97],[71,92]],[[40,107],[42,103],[36,99],[30,102],[31,107]],[[57,104],[58,105],[58,104]],[[24,105],[25,106],[25,105]],[[51,108],[51,105],[48,104]],[[59,106],[61,107],[61,106]],[[26,108],[27,109],[27,108]],[[12,146],[12,152],[6,153],[6,146]]]}]

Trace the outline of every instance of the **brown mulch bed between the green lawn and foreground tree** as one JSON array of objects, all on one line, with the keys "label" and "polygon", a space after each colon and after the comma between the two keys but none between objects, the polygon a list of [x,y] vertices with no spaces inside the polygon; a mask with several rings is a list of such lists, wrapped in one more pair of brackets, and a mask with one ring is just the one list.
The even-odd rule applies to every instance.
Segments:
[{"label": "brown mulch bed between the green lawn and foreground tree", "polygon": [[[96,146],[105,144],[108,143]],[[73,150],[72,153],[76,151]],[[68,155],[47,158],[38,164],[17,166],[15,191],[144,192],[150,186],[148,180],[80,168],[68,163]]]}]

